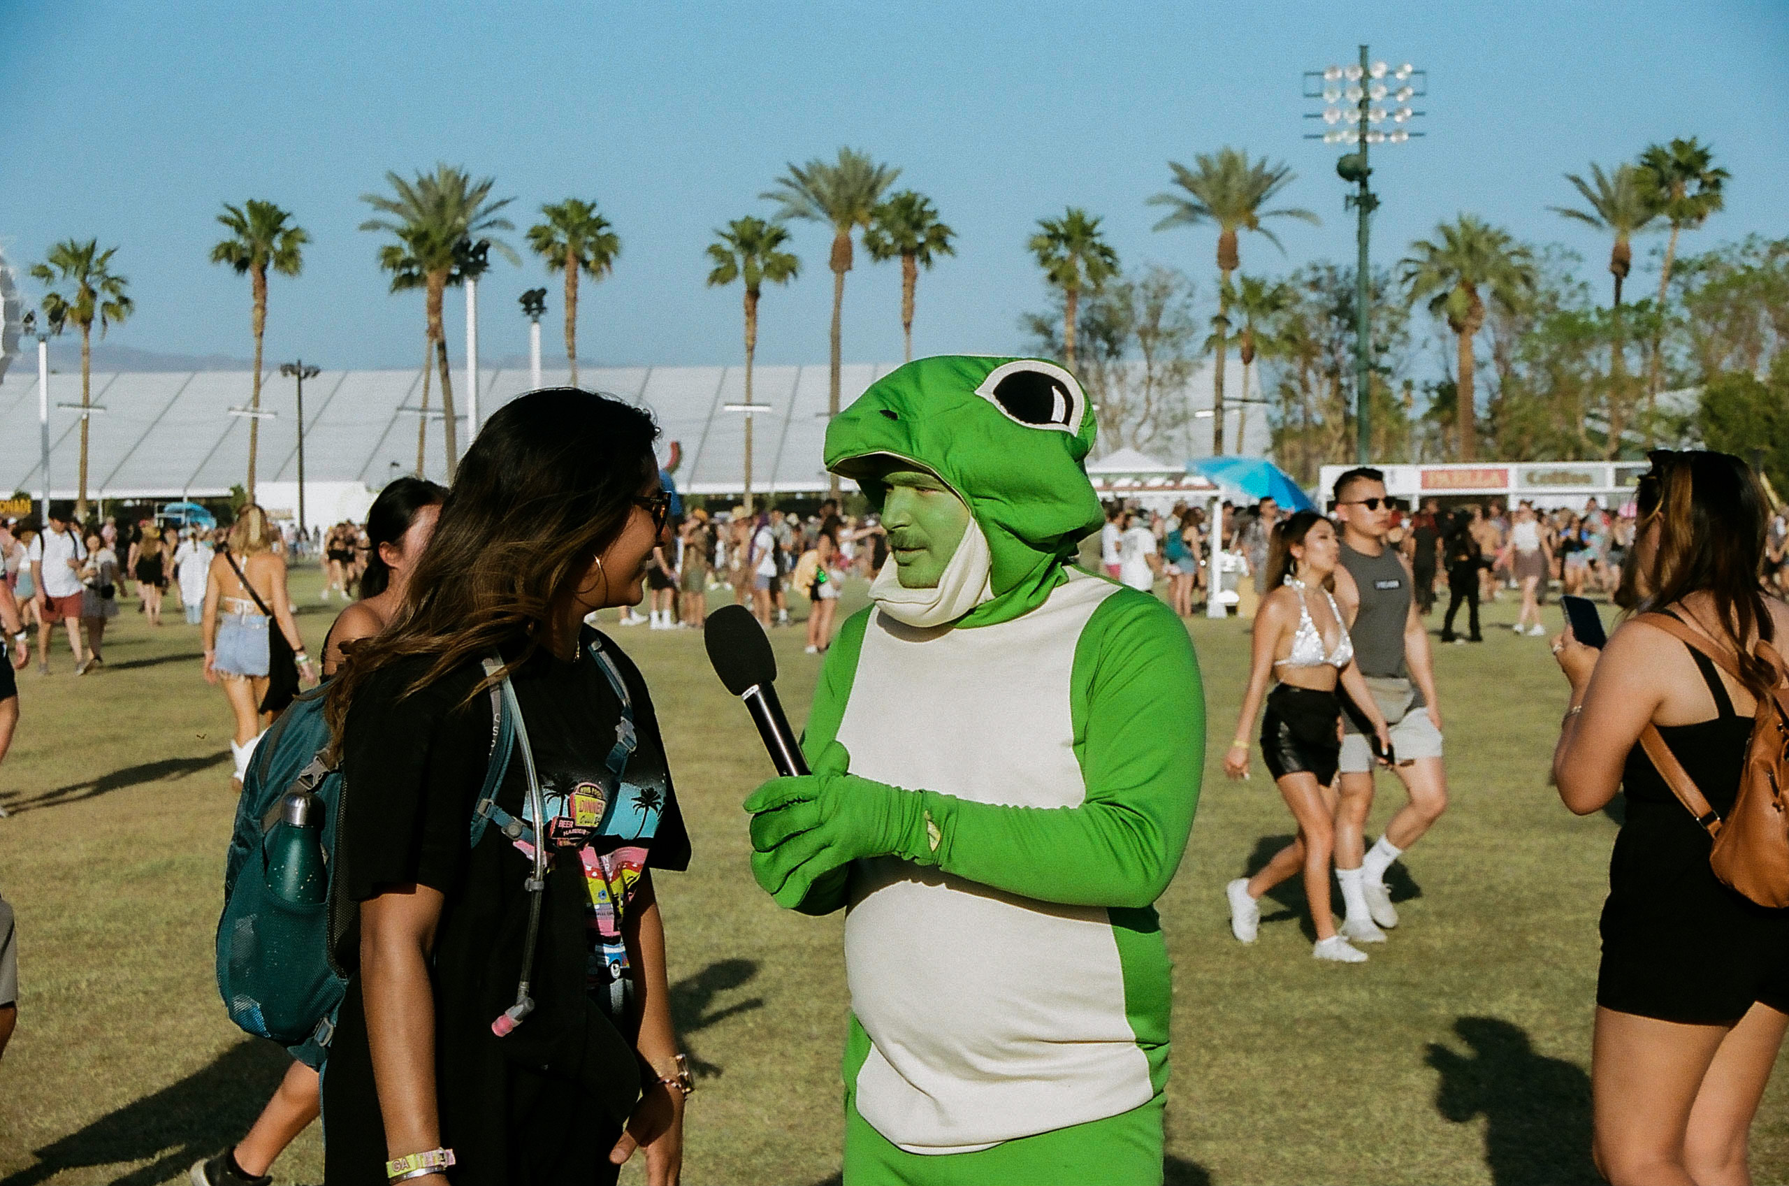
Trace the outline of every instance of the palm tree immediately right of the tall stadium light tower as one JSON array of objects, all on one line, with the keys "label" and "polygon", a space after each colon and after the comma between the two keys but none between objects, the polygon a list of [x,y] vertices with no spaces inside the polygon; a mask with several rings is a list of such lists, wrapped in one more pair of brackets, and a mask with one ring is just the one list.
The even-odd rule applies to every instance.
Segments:
[{"label": "palm tree immediately right of the tall stadium light tower", "polygon": [[1458,411],[1462,462],[1478,454],[1478,428],[1472,406],[1472,336],[1485,324],[1485,299],[1506,309],[1517,309],[1535,288],[1535,258],[1503,227],[1488,225],[1472,215],[1460,215],[1453,224],[1435,227],[1437,240],[1417,240],[1410,254],[1399,261],[1403,283],[1415,304],[1429,297],[1429,313],[1447,318],[1447,327],[1458,335]]}]

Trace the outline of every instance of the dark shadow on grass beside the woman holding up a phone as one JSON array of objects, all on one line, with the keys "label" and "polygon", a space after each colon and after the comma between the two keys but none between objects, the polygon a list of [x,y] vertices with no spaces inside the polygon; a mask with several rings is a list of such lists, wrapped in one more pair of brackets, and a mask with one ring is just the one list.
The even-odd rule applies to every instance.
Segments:
[{"label": "dark shadow on grass beside the woman holding up a phone", "polygon": [[1454,1032],[1469,1054],[1429,1043],[1424,1059],[1440,1073],[1435,1111],[1454,1123],[1485,1118],[1490,1181],[1601,1182],[1590,1161],[1590,1077],[1535,1052],[1522,1029],[1497,1018],[1458,1018]]}]

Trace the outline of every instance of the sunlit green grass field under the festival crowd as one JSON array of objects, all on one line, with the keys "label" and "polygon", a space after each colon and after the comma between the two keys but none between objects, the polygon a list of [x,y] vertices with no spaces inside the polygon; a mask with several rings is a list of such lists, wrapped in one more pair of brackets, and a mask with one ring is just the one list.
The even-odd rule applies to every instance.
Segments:
[{"label": "sunlit green grass field under the festival crowd", "polygon": [[[315,589],[313,571],[295,572],[313,646],[338,608]],[[21,959],[0,1186],[184,1181],[284,1068],[231,1027],[211,975],[229,712],[200,680],[199,630],[150,631],[132,608],[100,673],[73,678],[64,644],[57,674],[20,676],[23,723],[0,767],[0,893]],[[653,687],[696,850],[691,873],[660,880],[678,1027],[701,1073],[685,1177],[823,1182],[839,1168],[841,919],[782,912],[753,885],[739,803],[769,764],[698,633],[615,633]],[[1204,619],[1191,633],[1222,741],[1247,635]],[[1259,762],[1227,784],[1222,753],[1208,755],[1191,846],[1159,903],[1175,957],[1170,1182],[1598,1181],[1587,1068],[1615,823],[1573,817],[1546,785],[1564,683],[1544,640],[1487,635],[1438,649],[1453,809],[1394,866],[1404,923],[1369,964],[1311,961],[1295,882],[1256,946],[1229,937],[1224,882],[1292,826]],[[800,630],[775,644],[784,703],[805,716],[819,660]],[[1381,778],[1374,828],[1399,796]],[[1760,1182],[1789,1179],[1785,1064],[1753,1166]],[[276,1177],[322,1179],[315,1127]]]}]

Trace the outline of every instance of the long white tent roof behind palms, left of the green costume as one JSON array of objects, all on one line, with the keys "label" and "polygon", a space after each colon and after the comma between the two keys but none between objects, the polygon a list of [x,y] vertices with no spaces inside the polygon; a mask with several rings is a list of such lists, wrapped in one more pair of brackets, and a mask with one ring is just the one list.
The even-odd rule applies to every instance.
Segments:
[{"label": "long white tent roof behind palms, left of the green costume", "polygon": [[[850,404],[894,363],[850,363],[843,369],[841,404]],[[454,370],[454,401],[465,440],[465,370]],[[542,370],[551,386],[565,370]],[[479,415],[530,388],[526,369],[487,369],[479,377]],[[683,445],[678,488],[689,494],[732,494],[744,476],[744,415],[723,404],[744,402],[744,367],[580,369],[583,386],[651,408],[664,442]],[[440,408],[438,385],[429,406]],[[821,465],[827,433],[828,369],[757,367],[751,397],[771,411],[755,413],[753,487],[760,492],[814,492],[828,485]],[[106,372],[91,377],[88,444],[89,497],[216,497],[243,479],[249,456],[247,417],[231,408],[249,402],[250,372]],[[415,411],[422,399],[420,370],[326,370],[304,385],[304,478],[385,485],[417,463]],[[50,376],[50,478],[55,497],[73,497],[81,453],[81,417],[57,404],[81,402],[79,374]],[[293,383],[270,370],[261,383],[259,479],[297,479]],[[36,367],[14,367],[0,377],[0,492],[39,492]],[[426,474],[445,479],[440,413],[429,419]],[[394,467],[395,463],[395,467]]]}]

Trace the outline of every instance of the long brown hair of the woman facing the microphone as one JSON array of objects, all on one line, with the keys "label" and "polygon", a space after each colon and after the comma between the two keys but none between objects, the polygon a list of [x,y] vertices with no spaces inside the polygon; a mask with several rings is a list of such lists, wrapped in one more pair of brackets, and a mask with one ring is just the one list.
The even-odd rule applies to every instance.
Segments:
[{"label": "long brown hair of the woman facing the microphone", "polygon": [[657,435],[644,410],[569,386],[530,392],[492,415],[460,462],[404,603],[379,635],[351,644],[329,685],[324,717],[336,755],[349,705],[383,667],[433,660],[401,692],[410,696],[499,649],[510,657],[504,673],[524,664],[553,599],[621,535],[657,476]]}]

